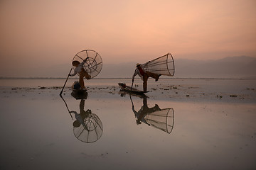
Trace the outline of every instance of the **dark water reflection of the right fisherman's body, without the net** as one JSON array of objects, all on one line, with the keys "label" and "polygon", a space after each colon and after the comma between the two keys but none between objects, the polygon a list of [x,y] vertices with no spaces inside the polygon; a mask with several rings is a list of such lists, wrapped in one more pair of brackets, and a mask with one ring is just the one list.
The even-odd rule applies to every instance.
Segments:
[{"label": "dark water reflection of the right fisherman's body, without the net", "polygon": [[134,110],[134,105],[132,105],[132,111],[134,112],[135,117],[137,118],[137,120],[136,120],[137,125],[139,125],[141,123],[146,123],[147,125],[149,125],[149,123],[147,123],[146,120],[144,119],[145,116],[147,114],[153,113],[155,111],[161,111],[161,109],[159,108],[159,106],[157,104],[154,107],[149,108],[147,106],[146,97],[144,97],[142,108],[137,112]]}]

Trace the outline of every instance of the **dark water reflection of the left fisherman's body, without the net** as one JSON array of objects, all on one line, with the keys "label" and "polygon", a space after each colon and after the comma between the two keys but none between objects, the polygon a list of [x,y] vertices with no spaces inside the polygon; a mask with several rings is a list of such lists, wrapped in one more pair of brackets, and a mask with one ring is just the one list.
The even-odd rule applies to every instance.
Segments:
[{"label": "dark water reflection of the left fisherman's body, without the net", "polygon": [[78,114],[76,111],[70,111],[70,113],[74,113],[75,114],[75,121],[73,122],[73,126],[75,128],[80,127],[80,125],[82,125],[85,129],[87,129],[86,125],[85,125],[85,118],[88,117],[88,115],[90,115],[90,113],[92,113],[91,110],[87,109],[87,111],[85,111],[85,100],[82,99],[80,101],[80,114]]}]

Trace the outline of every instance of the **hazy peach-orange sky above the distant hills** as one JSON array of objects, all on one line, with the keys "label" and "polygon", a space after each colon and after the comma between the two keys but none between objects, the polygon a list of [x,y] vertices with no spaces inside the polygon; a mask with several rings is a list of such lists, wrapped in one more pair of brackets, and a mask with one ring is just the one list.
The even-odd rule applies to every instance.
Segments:
[{"label": "hazy peach-orange sky above the distant hills", "polygon": [[255,0],[1,0],[1,75],[70,63],[80,50],[103,63],[256,57]]}]

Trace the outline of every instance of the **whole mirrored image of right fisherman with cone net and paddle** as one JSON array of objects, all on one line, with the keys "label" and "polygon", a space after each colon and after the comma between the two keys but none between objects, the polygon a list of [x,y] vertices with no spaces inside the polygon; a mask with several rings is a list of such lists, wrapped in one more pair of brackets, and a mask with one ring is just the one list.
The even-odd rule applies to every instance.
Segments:
[{"label": "whole mirrored image of right fisherman with cone net and paddle", "polygon": [[[130,97],[130,99],[132,101],[132,97]],[[174,109],[161,109],[157,104],[154,107],[149,108],[147,106],[146,97],[143,98],[143,106],[139,111],[135,111],[132,102],[132,111],[137,118],[137,125],[145,123],[146,125],[151,125],[154,128],[167,133],[171,133],[174,128]]]}]

